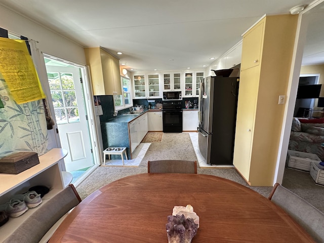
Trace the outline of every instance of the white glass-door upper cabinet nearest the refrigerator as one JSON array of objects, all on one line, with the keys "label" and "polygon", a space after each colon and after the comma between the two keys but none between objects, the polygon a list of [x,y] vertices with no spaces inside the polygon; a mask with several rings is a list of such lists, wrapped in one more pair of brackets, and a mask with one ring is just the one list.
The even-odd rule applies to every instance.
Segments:
[{"label": "white glass-door upper cabinet nearest the refrigerator", "polygon": [[184,92],[182,98],[198,97],[199,81],[205,75],[205,71],[190,71],[184,73]]}]

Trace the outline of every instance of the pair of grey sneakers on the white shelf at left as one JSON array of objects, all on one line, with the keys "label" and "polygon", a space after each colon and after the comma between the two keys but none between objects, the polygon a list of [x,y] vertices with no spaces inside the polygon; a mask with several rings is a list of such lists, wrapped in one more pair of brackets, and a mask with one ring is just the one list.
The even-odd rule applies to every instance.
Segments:
[{"label": "pair of grey sneakers on the white shelf at left", "polygon": [[5,211],[9,217],[16,218],[25,213],[28,208],[35,208],[41,203],[41,194],[28,191],[24,194],[14,195],[8,203],[0,206],[0,211]]}]

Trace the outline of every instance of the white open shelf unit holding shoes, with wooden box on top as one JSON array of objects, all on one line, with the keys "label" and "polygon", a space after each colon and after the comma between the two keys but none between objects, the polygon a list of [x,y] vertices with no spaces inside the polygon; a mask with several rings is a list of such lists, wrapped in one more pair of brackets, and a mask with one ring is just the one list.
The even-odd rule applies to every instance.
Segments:
[{"label": "white open shelf unit holding shoes, with wooden box on top", "polygon": [[3,242],[10,234],[38,208],[41,208],[54,195],[63,190],[64,183],[58,161],[67,155],[67,150],[54,148],[39,156],[39,164],[23,171],[17,175],[0,174],[0,205],[7,203],[13,195],[21,194],[32,186],[43,185],[50,188],[44,195],[43,203],[36,208],[26,211],[18,218],[10,218],[9,221],[0,227],[0,242]]}]

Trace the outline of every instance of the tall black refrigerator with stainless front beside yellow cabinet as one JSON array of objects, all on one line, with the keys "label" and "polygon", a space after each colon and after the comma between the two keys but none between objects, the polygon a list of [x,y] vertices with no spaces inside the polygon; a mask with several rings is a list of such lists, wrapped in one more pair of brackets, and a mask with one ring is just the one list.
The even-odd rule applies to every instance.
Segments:
[{"label": "tall black refrigerator with stainless front beside yellow cabinet", "polygon": [[198,147],[210,165],[233,165],[239,77],[200,80]]}]

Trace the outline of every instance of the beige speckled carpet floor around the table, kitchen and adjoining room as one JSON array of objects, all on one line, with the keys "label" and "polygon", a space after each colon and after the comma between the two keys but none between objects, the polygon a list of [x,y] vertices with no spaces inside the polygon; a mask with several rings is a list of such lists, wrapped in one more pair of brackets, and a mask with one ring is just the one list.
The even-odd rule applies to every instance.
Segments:
[{"label": "beige speckled carpet floor around the table, kitchen and adjoining room", "polygon": [[[164,133],[160,143],[151,143],[139,167],[98,167],[76,187],[76,190],[80,197],[84,199],[95,190],[112,181],[126,176],[147,173],[147,161],[159,159],[196,160],[189,135],[186,133]],[[234,168],[198,168],[197,173],[219,176],[235,181],[265,197],[268,197],[272,190],[272,187],[268,186],[249,186]],[[315,185],[309,173],[285,169],[282,185],[324,212],[324,187]]]}]

